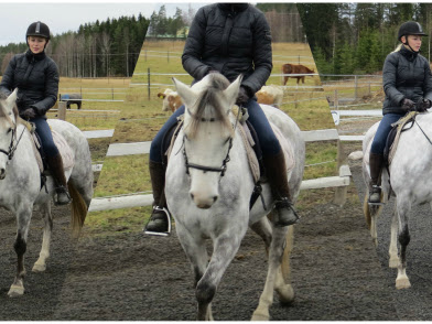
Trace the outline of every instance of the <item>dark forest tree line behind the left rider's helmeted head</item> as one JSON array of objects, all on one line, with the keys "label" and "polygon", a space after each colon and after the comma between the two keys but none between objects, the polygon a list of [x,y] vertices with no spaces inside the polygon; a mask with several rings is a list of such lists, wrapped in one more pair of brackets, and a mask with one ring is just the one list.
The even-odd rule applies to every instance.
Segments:
[{"label": "dark forest tree line behind the left rider's helmeted head", "polygon": [[[141,13],[79,25],[52,36],[46,53],[58,66],[61,76],[107,77],[133,73],[149,21]],[[52,31],[55,33],[55,31]],[[1,73],[10,60],[28,50],[25,42],[0,46]]]}]

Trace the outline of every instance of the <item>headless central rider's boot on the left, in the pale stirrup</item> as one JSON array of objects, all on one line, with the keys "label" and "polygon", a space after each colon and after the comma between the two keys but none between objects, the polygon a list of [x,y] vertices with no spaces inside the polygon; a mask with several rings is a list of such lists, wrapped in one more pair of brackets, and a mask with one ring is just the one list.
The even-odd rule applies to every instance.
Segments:
[{"label": "headless central rider's boot on the left, in the pale stirrup", "polygon": [[150,235],[166,236],[171,230],[170,214],[165,199],[165,166],[162,163],[149,161],[150,179],[153,187],[153,212],[144,233]]}]

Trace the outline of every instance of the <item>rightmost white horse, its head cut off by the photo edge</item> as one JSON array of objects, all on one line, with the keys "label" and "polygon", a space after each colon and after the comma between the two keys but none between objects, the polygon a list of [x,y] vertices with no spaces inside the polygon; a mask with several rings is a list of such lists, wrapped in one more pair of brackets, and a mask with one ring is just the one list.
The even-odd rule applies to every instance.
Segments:
[{"label": "rightmost white horse, its head cut off by the photo edge", "polygon": [[[432,206],[432,114],[417,115],[417,123],[401,133],[397,151],[389,168],[381,173],[381,202],[388,201],[390,195],[396,196],[395,213],[391,219],[391,237],[389,248],[389,267],[398,268],[396,288],[410,288],[407,277],[407,247],[410,241],[408,229],[409,213],[415,205],[429,203]],[[379,122],[375,123],[366,133],[363,141],[363,175],[366,183],[364,212],[370,234],[376,245],[377,218],[382,206],[372,206],[367,203],[370,187],[370,171],[368,152]],[[424,133],[423,133],[424,132]],[[398,252],[398,241],[400,252]]]}]

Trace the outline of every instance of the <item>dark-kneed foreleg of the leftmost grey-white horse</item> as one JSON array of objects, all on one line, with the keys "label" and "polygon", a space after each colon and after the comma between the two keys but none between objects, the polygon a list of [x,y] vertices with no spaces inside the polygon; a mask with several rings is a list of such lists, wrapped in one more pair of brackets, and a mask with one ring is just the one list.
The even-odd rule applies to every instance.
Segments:
[{"label": "dark-kneed foreleg of the leftmost grey-white horse", "polygon": [[18,257],[17,277],[8,292],[9,296],[19,296],[24,294],[24,253],[26,250],[26,238],[29,234],[31,217],[31,208],[22,209],[17,213],[17,238],[13,245]]}]

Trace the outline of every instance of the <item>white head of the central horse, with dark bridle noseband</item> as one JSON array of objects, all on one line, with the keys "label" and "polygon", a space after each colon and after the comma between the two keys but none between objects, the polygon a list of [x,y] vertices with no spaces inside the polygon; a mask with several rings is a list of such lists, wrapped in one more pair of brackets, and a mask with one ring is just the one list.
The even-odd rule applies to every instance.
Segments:
[{"label": "white head of the central horse, with dark bridle noseband", "polygon": [[173,79],[185,105],[183,154],[191,176],[190,196],[198,208],[210,208],[219,196],[234,138],[229,114],[241,78],[229,84],[222,74],[212,73],[192,87]]}]

